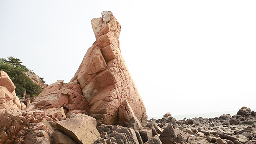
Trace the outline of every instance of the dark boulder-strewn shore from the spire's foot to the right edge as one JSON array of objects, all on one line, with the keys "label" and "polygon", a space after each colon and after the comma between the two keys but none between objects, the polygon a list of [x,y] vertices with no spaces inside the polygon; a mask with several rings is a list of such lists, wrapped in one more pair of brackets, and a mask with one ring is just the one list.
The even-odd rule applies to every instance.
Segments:
[{"label": "dark boulder-strewn shore from the spire's foot to the right edge", "polygon": [[236,115],[176,120],[169,112],[150,119],[141,130],[122,126],[97,126],[94,144],[256,144],[256,117],[242,107]]}]

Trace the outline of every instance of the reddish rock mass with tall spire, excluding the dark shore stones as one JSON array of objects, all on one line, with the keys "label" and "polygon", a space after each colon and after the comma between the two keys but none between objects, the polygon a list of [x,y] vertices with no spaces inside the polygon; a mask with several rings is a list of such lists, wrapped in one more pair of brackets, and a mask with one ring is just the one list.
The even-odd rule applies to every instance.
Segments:
[{"label": "reddish rock mass with tall spire, excluding the dark shore stones", "polygon": [[[146,108],[120,53],[120,24],[111,12],[102,16],[92,20],[96,42],[74,78],[49,85],[26,108],[0,72],[0,144],[142,144],[134,129],[146,124]],[[99,133],[97,124],[134,129],[108,125]]]}]

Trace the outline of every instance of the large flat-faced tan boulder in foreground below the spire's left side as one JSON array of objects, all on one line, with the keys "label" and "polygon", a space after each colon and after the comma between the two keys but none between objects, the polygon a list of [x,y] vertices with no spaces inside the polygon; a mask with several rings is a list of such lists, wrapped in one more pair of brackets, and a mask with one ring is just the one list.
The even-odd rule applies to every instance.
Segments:
[{"label": "large flat-faced tan boulder in foreground below the spire's left side", "polygon": [[56,126],[78,144],[93,144],[100,136],[96,129],[96,119],[85,114],[75,114],[73,118],[58,121]]}]

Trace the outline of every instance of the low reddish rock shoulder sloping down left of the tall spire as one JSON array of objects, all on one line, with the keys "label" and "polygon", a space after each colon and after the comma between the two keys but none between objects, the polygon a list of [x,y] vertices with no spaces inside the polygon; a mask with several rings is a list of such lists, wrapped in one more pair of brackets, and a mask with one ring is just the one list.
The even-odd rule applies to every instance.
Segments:
[{"label": "low reddish rock shoulder sloping down left of the tall spire", "polygon": [[[43,110],[49,117],[56,120],[63,120],[65,113],[71,110],[86,110],[88,104],[85,98],[80,94],[77,81],[63,86],[63,80],[49,85],[35,100],[24,110]],[[80,92],[80,93],[78,93]],[[62,108],[62,112],[58,112]]]}]

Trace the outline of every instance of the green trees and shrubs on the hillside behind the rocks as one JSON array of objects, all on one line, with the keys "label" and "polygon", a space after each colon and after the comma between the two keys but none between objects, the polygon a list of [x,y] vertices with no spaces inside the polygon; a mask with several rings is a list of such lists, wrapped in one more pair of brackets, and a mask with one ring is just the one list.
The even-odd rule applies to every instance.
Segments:
[{"label": "green trees and shrubs on the hillside behind the rocks", "polygon": [[29,97],[36,97],[42,92],[42,88],[32,82],[32,80],[24,74],[31,71],[22,65],[19,58],[9,56],[8,60],[0,58],[0,70],[5,71],[16,86],[16,95],[21,98],[24,94]]}]

